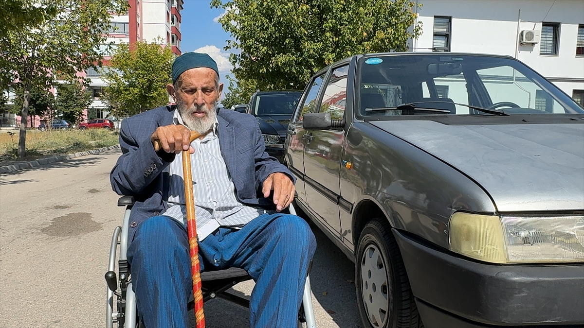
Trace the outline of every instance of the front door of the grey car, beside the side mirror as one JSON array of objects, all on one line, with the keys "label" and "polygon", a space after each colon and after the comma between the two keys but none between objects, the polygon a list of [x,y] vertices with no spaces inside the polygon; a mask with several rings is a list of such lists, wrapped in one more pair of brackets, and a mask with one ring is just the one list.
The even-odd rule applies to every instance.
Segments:
[{"label": "front door of the grey car, beside the side mirror", "polygon": [[[349,64],[332,69],[315,113],[331,114],[343,120],[347,97]],[[304,146],[304,187],[308,206],[340,238],[339,173],[343,153],[344,130],[329,129],[307,132]]]}]

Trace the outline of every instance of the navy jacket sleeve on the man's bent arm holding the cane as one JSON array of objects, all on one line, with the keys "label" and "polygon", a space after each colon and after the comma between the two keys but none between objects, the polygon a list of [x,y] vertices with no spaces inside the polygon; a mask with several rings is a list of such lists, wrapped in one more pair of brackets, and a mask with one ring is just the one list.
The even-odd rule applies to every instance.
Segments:
[{"label": "navy jacket sleeve on the man's bent arm holding the cane", "polygon": [[121,196],[140,195],[175,158],[174,153],[155,152],[150,137],[136,140],[131,133],[130,121],[121,123],[122,155],[110,173],[112,189]]}]

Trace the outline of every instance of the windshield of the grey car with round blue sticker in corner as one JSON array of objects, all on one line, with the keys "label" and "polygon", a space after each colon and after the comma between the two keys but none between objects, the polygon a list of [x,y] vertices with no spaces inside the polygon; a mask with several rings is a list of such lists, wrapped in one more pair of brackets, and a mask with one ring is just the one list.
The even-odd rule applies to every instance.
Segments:
[{"label": "windshield of the grey car with round blue sticker in corner", "polygon": [[584,113],[556,86],[512,58],[385,55],[361,58],[359,67],[360,116],[489,115],[492,110],[504,114]]}]

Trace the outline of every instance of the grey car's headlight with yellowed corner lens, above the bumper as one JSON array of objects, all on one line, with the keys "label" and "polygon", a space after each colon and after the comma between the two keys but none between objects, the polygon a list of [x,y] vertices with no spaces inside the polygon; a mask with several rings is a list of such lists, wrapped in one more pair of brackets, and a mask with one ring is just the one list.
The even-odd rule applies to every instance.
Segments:
[{"label": "grey car's headlight with yellowed corner lens, above the bumper", "polygon": [[507,216],[457,212],[449,249],[491,263],[584,261],[584,215]]}]

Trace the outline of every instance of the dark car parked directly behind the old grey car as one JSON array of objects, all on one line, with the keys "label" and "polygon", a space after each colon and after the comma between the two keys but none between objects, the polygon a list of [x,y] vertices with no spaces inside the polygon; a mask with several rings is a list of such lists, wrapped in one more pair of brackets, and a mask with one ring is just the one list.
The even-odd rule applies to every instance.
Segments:
[{"label": "dark car parked directly behind the old grey car", "polygon": [[290,116],[301,91],[258,91],[251,97],[246,112],[258,118],[266,152],[284,160],[284,141]]}]

